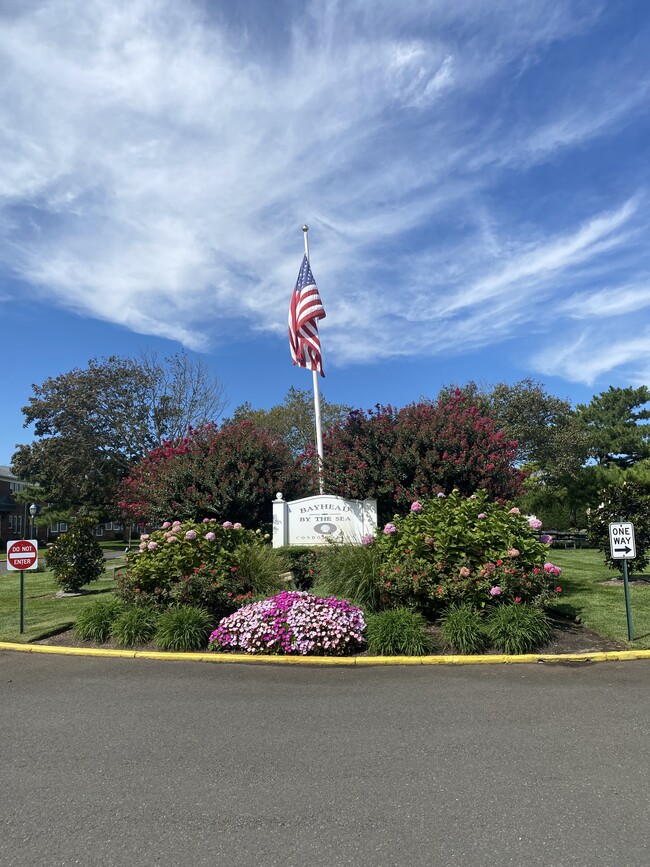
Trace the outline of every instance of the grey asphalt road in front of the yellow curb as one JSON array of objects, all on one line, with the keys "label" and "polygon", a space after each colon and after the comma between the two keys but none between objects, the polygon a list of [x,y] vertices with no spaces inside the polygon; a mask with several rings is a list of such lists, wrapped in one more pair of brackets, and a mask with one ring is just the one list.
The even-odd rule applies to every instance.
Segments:
[{"label": "grey asphalt road in front of the yellow curb", "polygon": [[0,864],[650,864],[650,662],[0,652]]}]

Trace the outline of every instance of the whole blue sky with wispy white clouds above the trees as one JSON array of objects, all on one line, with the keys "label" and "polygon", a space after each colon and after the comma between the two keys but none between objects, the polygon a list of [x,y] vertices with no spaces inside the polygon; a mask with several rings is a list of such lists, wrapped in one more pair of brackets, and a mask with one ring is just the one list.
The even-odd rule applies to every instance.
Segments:
[{"label": "whole blue sky with wispy white clouds above the trees", "polygon": [[648,383],[649,44],[646,0],[5,0],[0,464],[93,356],[311,388],[305,222],[328,400]]}]

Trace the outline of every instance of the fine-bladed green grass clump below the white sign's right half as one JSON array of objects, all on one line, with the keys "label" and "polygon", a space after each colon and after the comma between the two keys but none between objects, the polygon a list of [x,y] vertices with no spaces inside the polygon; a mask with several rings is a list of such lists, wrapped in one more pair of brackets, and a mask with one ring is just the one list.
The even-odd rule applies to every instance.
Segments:
[{"label": "fine-bladed green grass clump below the white sign's right half", "polygon": [[374,546],[332,542],[316,557],[313,592],[377,611],[382,607],[381,571],[381,555]]}]

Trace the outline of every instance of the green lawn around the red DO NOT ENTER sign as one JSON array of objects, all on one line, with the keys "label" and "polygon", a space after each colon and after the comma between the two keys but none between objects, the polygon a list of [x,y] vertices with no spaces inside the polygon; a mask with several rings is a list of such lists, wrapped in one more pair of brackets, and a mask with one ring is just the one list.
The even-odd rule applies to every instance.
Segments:
[{"label": "green lawn around the red DO NOT ENTER sign", "polygon": [[[112,570],[105,573],[112,576]],[[20,634],[20,573],[0,574],[0,641],[34,641],[74,623],[79,612],[115,587],[111,578],[94,581],[83,596],[56,599],[51,572],[25,572],[25,632]]]}]

